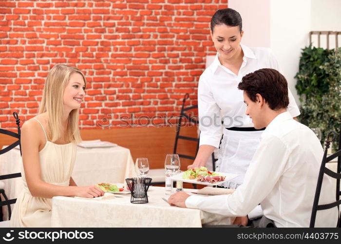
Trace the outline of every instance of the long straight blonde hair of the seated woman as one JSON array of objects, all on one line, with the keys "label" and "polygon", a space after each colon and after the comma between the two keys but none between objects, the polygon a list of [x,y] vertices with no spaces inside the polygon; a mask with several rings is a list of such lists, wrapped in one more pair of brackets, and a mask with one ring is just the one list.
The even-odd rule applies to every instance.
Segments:
[{"label": "long straight blonde hair of the seated woman", "polygon": [[[39,105],[38,113],[47,112],[47,138],[51,142],[56,142],[61,136],[61,119],[63,114],[63,94],[70,76],[74,73],[80,74],[86,84],[84,74],[76,67],[57,64],[46,78],[42,100]],[[78,128],[79,109],[73,109],[68,118],[65,130],[65,139],[69,142],[81,142]]]}]

